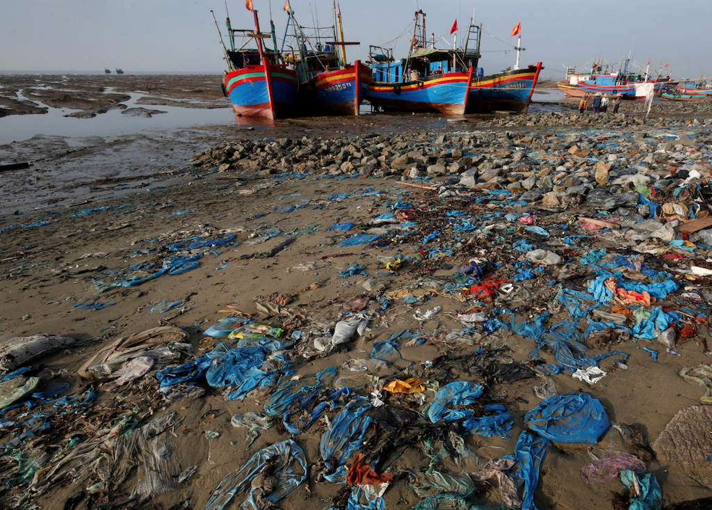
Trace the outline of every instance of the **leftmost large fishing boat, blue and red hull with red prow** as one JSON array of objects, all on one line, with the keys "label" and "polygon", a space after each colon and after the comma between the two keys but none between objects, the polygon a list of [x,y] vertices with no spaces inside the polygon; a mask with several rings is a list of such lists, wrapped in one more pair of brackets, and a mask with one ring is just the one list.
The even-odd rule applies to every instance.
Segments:
[{"label": "leftmost large fishing boat, blue and red hull with red prow", "polygon": [[[254,30],[232,28],[228,15],[226,24],[230,49],[226,48],[215,15],[211,11],[228,66],[222,83],[223,93],[230,98],[236,119],[240,117],[269,120],[288,118],[293,115],[298,86],[297,73],[289,69],[287,64],[281,63],[274,29],[272,28],[271,34],[262,33],[257,11],[251,8],[251,2],[246,6],[248,11],[253,13],[255,28]],[[246,36],[248,42],[237,47],[236,35]],[[274,51],[269,51],[263,43],[268,38],[273,40]],[[245,48],[250,41],[255,41],[257,48]]]}]

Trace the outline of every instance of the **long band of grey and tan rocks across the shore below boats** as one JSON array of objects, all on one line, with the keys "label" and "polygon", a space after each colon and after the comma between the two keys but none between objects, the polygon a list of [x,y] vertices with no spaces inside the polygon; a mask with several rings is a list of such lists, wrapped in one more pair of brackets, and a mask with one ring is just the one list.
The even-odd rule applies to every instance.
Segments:
[{"label": "long band of grey and tan rocks across the shore below boats", "polygon": [[[548,115],[544,115],[547,117]],[[712,125],[712,122],[711,122]],[[469,189],[517,194],[549,207],[585,204],[631,217],[649,217],[649,197],[710,176],[709,130],[688,137],[656,128],[584,134],[470,132],[380,135],[336,140],[239,140],[194,156],[197,167],[267,177],[310,175],[399,176],[435,179]],[[422,184],[429,184],[424,182]],[[672,197],[667,197],[672,199]]]}]

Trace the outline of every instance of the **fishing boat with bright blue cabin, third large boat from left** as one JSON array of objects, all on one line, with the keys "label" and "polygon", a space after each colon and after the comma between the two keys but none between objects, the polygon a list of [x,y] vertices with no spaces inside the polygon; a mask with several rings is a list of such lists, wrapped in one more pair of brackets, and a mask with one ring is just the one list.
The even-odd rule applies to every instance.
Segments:
[{"label": "fishing boat with bright blue cabin, third large boat from left", "polygon": [[367,99],[374,108],[443,115],[466,112],[473,68],[462,71],[457,67],[458,52],[426,48],[425,41],[425,14],[417,11],[407,58],[395,61],[392,50],[370,46],[372,83]]}]

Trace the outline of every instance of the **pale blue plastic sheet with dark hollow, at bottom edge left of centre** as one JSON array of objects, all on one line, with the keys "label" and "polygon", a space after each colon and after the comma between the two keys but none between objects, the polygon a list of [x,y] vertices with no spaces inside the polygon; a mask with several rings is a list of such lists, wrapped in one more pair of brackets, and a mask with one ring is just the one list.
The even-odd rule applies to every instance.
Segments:
[{"label": "pale blue plastic sheet with dark hollow, at bottom edge left of centre", "polygon": [[[251,482],[271,464],[271,474],[276,477],[275,489],[264,501],[256,498],[261,489],[251,488]],[[292,439],[261,449],[236,473],[228,474],[211,494],[205,510],[222,510],[236,494],[249,490],[244,510],[266,510],[276,508],[276,502],[296,489],[307,479],[307,461],[302,449]],[[262,503],[262,504],[259,504]]]}]

